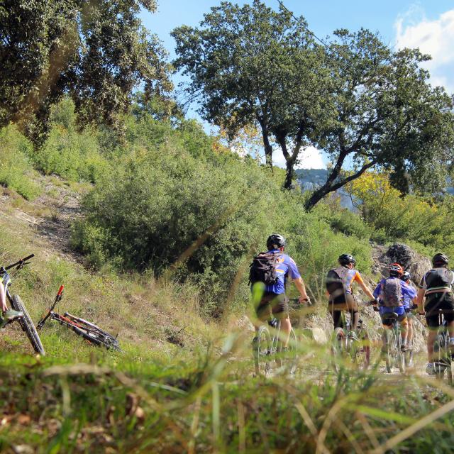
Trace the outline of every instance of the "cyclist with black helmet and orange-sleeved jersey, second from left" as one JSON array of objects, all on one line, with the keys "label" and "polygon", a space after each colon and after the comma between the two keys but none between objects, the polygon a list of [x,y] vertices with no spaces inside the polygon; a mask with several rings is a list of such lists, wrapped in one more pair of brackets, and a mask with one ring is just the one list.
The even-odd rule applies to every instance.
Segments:
[{"label": "cyclist with black helmet and orange-sleeved jersey, second from left", "polygon": [[349,311],[351,314],[350,336],[355,338],[355,329],[358,326],[360,314],[358,304],[353,297],[352,284],[356,282],[362,288],[367,297],[375,300],[370,289],[362,280],[360,273],[355,270],[356,260],[351,254],[342,254],[338,258],[339,265],[336,269],[330,270],[326,277],[326,289],[329,294],[329,311],[333,316],[334,328],[341,326],[341,312]]}]

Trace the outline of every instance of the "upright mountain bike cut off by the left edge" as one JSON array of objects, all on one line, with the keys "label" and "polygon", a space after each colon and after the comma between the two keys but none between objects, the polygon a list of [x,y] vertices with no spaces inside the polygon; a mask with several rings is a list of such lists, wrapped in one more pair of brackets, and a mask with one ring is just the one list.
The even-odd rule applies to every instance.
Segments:
[{"label": "upright mountain bike cut off by the left edge", "polygon": [[18,270],[21,270],[25,265],[28,265],[28,263],[30,263],[27,262],[27,260],[30,260],[33,257],[35,257],[35,255],[31,254],[28,255],[26,258],[21,258],[21,260],[18,260],[16,263],[13,263],[12,265],[9,265],[7,267],[0,267],[0,279],[4,285],[6,298],[8,299],[9,304],[11,304],[11,307],[15,311],[22,312],[23,314],[21,318],[15,319],[13,321],[18,321],[18,323],[21,325],[22,331],[25,331],[28,337],[28,341],[30,341],[35,352],[44,356],[45,351],[43,348],[43,344],[41,343],[40,336],[36,332],[35,325],[33,324],[31,316],[28,314],[26,306],[24,306],[21,297],[19,297],[16,294],[11,295],[11,293],[9,292],[9,286],[11,285],[11,275],[9,274],[8,270],[11,270],[11,268],[16,268],[16,272]]}]

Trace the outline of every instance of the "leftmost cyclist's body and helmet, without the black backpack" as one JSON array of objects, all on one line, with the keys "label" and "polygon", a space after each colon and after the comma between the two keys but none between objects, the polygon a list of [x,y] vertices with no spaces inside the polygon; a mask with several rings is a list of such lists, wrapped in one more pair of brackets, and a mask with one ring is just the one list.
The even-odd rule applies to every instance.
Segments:
[{"label": "leftmost cyclist's body and helmet, without the black backpack", "polygon": [[[289,299],[285,294],[288,280],[292,280],[297,287],[300,294],[299,302],[309,303],[306,287],[299,274],[297,264],[289,255],[284,254],[286,245],[287,243],[282,235],[273,234],[268,237],[267,254],[275,256],[275,275],[277,279],[275,284],[258,282],[260,284],[259,287],[255,287],[257,283],[253,284],[253,294],[255,294],[256,288],[259,288],[261,292],[255,313],[260,321],[265,321],[269,317],[271,310],[272,314],[281,320],[282,332],[286,334],[284,348],[288,345],[292,329],[292,323],[289,318]],[[255,331],[258,331],[258,326],[255,327]]]}]

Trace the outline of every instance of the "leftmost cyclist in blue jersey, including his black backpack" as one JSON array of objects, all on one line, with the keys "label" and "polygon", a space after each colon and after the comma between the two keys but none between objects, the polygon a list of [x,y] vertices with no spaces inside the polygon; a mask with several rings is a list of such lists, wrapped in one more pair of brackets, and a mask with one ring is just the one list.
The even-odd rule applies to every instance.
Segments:
[{"label": "leftmost cyclist in blue jersey, including his black backpack", "polygon": [[267,252],[254,258],[250,272],[257,317],[260,321],[267,319],[271,309],[272,314],[281,319],[281,329],[287,335],[284,347],[287,347],[292,329],[289,303],[285,294],[287,279],[292,279],[296,285],[300,294],[299,302],[309,302],[297,264],[289,255],[283,253],[286,245],[282,235],[270,235],[267,239]]}]

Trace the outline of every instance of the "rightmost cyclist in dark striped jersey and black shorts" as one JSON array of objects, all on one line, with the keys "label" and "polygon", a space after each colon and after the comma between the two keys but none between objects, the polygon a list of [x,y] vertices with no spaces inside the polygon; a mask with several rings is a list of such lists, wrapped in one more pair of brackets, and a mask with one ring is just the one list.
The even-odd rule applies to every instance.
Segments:
[{"label": "rightmost cyclist in dark striped jersey and black shorts", "polygon": [[453,345],[454,348],[454,272],[448,270],[448,263],[449,260],[445,254],[438,253],[434,255],[432,258],[432,270],[429,270],[423,275],[419,284],[418,309],[420,314],[425,312],[428,326],[428,364],[426,372],[429,375],[435,374],[433,342],[435,341],[440,324],[438,317],[438,311],[440,309],[443,310],[443,316],[448,325],[450,345]]}]

